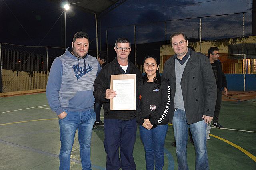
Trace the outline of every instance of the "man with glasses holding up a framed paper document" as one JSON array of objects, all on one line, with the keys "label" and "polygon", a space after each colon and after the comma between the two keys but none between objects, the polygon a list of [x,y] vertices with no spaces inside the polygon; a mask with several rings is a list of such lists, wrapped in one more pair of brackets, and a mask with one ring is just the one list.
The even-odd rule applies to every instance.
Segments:
[{"label": "man with glasses holding up a framed paper document", "polygon": [[128,39],[118,38],[114,50],[117,57],[102,68],[95,79],[93,92],[94,97],[103,102],[106,170],[119,170],[120,168],[135,170],[136,165],[132,155],[137,131],[135,111],[110,110],[109,99],[116,96],[116,92],[110,89],[110,77],[117,74],[136,74],[137,106],[137,85],[142,75],[140,70],[128,59],[131,52],[131,43]]}]

